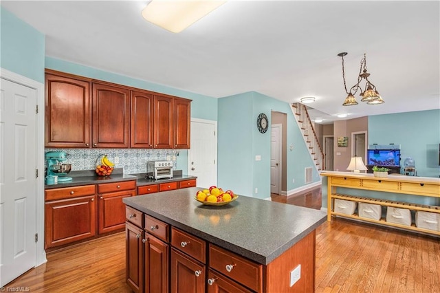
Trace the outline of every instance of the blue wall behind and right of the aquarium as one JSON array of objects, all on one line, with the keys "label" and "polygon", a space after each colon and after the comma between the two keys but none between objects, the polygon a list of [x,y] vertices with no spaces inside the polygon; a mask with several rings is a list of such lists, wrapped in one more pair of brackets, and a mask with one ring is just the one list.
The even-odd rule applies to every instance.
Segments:
[{"label": "blue wall behind and right of the aquarium", "polygon": [[417,175],[439,177],[440,109],[369,116],[369,144],[400,144],[401,166],[411,157]]}]

